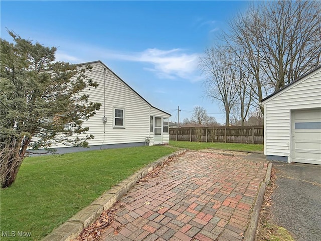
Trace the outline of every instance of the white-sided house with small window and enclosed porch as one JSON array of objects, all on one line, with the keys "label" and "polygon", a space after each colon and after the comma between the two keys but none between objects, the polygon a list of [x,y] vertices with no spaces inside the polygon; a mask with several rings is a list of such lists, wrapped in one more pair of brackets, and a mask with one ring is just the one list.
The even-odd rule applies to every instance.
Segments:
[{"label": "white-sided house with small window and enclosed porch", "polygon": [[[100,110],[83,123],[89,127],[86,135],[94,135],[89,150],[169,143],[169,113],[152,106],[101,61],[79,65],[87,64],[92,71],[86,75],[99,86],[83,92],[89,101],[101,103]],[[63,144],[52,148],[58,153],[88,150]]]}]

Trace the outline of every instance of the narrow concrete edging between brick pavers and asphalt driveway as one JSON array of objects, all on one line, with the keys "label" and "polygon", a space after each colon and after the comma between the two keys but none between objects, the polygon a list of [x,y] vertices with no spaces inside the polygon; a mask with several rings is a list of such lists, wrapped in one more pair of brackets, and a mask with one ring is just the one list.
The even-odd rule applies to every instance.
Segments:
[{"label": "narrow concrete edging between brick pavers and asphalt driveway", "polygon": [[260,211],[261,211],[261,207],[262,207],[263,199],[264,199],[265,187],[266,187],[266,184],[268,184],[270,181],[271,170],[272,170],[272,163],[269,163],[267,166],[265,179],[264,179],[264,181],[261,182],[259,192],[257,194],[256,201],[254,204],[254,209],[253,209],[253,212],[251,215],[250,223],[247,226],[247,229],[245,231],[243,241],[254,241],[255,240],[256,229],[257,229],[257,225],[259,222]]}]

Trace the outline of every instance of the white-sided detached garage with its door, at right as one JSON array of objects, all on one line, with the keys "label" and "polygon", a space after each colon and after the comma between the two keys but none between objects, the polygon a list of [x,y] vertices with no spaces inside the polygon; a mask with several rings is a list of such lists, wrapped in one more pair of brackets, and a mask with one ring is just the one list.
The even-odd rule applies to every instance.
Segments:
[{"label": "white-sided detached garage with its door, at right", "polygon": [[321,165],[321,66],[261,100],[269,160]]}]

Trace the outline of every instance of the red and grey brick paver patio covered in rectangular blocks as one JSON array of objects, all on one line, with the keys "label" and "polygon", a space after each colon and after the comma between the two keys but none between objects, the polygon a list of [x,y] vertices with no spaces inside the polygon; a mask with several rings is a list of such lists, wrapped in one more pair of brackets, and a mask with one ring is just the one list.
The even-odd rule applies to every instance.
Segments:
[{"label": "red and grey brick paver patio covered in rectangular blocks", "polygon": [[121,199],[103,240],[241,240],[267,163],[187,152]]}]

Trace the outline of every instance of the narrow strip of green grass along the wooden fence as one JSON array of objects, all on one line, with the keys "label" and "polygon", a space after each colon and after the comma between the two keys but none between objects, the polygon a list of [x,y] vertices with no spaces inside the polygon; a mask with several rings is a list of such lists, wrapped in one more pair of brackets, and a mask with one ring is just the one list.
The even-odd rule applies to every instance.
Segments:
[{"label": "narrow strip of green grass along the wooden fence", "polygon": [[205,148],[217,148],[233,151],[263,151],[264,146],[261,144],[241,144],[241,143],[210,143],[210,142],[183,142],[170,141],[170,145],[179,148],[188,148],[191,150],[201,150]]}]

